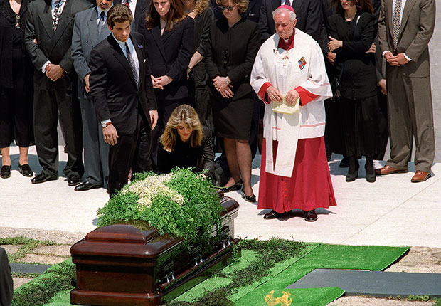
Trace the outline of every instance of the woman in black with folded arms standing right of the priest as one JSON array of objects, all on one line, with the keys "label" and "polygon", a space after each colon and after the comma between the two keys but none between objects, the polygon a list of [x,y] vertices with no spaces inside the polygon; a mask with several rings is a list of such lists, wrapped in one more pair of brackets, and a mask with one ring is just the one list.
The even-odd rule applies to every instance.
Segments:
[{"label": "woman in black with folded arms standing right of the priest", "polygon": [[381,112],[378,106],[375,56],[370,51],[376,36],[371,0],[333,0],[336,14],[329,17],[329,51],[336,54],[336,75],[341,75],[339,122],[343,151],[349,157],[346,181],[358,177],[357,157],[366,157],[366,181],[376,180],[373,157],[381,154]]}]

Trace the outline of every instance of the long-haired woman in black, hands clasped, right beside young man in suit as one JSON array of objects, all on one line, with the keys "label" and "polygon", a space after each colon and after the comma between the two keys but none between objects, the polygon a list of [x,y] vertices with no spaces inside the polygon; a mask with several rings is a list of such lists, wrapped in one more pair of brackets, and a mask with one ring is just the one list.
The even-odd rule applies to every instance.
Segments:
[{"label": "long-haired woman in black, hands clasped, right beside young man in suit", "polygon": [[181,0],[153,0],[145,19],[144,36],[158,105],[158,124],[152,132],[152,159],[157,164],[157,141],[171,112],[188,100],[186,70],[193,51],[193,19]]}]

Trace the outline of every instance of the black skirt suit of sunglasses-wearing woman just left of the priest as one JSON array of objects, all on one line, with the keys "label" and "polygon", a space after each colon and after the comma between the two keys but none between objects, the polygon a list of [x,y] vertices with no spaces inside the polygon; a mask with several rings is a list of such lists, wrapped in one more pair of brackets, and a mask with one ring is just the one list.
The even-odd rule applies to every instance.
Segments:
[{"label": "black skirt suit of sunglasses-wearing woman just left of the priest", "polygon": [[250,137],[254,102],[250,74],[260,48],[260,29],[257,23],[240,19],[231,28],[225,17],[210,26],[209,44],[204,57],[210,80],[228,76],[233,98],[226,99],[210,83],[213,120],[216,134],[230,139]]}]

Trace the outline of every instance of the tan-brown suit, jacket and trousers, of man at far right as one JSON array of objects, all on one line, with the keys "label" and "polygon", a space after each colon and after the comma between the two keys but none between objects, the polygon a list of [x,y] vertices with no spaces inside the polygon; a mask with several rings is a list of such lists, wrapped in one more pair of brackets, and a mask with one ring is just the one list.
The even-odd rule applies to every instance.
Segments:
[{"label": "tan-brown suit, jacket and trousers, of man at far right", "polygon": [[386,66],[390,159],[386,165],[408,169],[415,138],[415,170],[430,174],[435,157],[428,43],[435,26],[435,0],[407,0],[396,48],[393,0],[381,1],[378,40],[381,52],[405,53],[411,60]]}]

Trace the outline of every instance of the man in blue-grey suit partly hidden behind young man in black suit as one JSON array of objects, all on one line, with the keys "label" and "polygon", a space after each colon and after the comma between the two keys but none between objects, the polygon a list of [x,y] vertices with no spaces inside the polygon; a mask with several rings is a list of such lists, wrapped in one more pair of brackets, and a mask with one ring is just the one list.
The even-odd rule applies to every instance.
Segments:
[{"label": "man in blue-grey suit partly hidden behind young man in black suit", "polygon": [[90,98],[90,51],[109,36],[106,14],[112,0],[96,0],[97,6],[81,11],[75,16],[72,35],[72,60],[77,72],[78,99],[83,120],[84,166],[86,179],[75,186],[75,191],[100,188],[107,184],[109,176],[109,145],[102,136],[101,124],[97,121],[95,106]]}]

